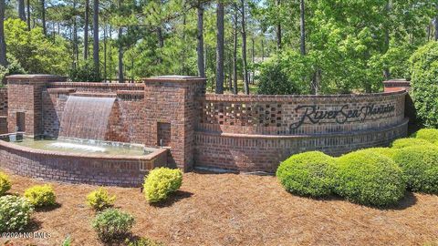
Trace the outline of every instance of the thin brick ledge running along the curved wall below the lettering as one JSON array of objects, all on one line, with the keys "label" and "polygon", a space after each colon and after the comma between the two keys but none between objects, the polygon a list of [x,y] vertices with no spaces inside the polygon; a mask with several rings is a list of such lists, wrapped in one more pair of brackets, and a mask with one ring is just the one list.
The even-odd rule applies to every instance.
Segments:
[{"label": "thin brick ledge running along the curved wall below the lettering", "polygon": [[349,136],[360,136],[372,133],[379,133],[389,131],[395,128],[401,128],[406,126],[409,123],[409,118],[404,118],[401,123],[387,127],[387,128],[379,128],[379,129],[366,129],[366,130],[358,130],[358,131],[349,131],[349,132],[331,132],[331,133],[321,133],[321,134],[296,134],[296,135],[263,135],[263,134],[240,134],[240,133],[226,133],[226,132],[213,132],[213,131],[203,131],[196,130],[196,134],[203,134],[209,136],[217,136],[217,137],[225,137],[225,138],[263,138],[263,139],[299,139],[299,138],[324,138],[324,137],[342,137],[345,135]]}]

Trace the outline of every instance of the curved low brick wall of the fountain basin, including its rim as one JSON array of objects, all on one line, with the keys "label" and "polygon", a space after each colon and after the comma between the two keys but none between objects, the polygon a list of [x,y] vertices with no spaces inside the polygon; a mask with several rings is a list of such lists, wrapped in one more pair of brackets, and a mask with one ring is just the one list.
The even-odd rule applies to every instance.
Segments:
[{"label": "curved low brick wall of the fountain basin, including its rim", "polygon": [[141,157],[68,154],[0,140],[0,167],[31,178],[138,187],[149,169],[165,166],[167,149]]}]

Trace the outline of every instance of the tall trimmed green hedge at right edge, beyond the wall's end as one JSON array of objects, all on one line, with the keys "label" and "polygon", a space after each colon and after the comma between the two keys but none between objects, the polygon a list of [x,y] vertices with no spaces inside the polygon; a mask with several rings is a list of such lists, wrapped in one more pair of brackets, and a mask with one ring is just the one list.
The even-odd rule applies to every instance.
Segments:
[{"label": "tall trimmed green hedge at right edge, beyond the wall's end", "polygon": [[438,42],[420,47],[411,56],[412,91],[417,116],[426,127],[438,128]]}]

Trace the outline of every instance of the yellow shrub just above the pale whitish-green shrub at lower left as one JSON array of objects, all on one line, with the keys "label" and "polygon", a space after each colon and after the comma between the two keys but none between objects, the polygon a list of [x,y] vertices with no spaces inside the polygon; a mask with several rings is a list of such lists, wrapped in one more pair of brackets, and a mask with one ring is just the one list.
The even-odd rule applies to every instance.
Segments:
[{"label": "yellow shrub just above the pale whitish-green shrub at lower left", "polygon": [[56,204],[57,196],[49,185],[36,185],[25,191],[25,198],[35,207]]}]

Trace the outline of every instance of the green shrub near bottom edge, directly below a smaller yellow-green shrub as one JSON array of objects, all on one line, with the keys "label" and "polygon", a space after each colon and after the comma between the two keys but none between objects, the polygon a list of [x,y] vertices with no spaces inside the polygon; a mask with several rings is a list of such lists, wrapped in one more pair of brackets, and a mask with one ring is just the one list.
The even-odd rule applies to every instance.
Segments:
[{"label": "green shrub near bottom edge, directly below a smaller yellow-green shrub", "polygon": [[101,241],[124,240],[133,225],[134,217],[118,209],[103,210],[92,221]]}]

